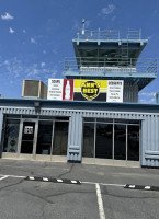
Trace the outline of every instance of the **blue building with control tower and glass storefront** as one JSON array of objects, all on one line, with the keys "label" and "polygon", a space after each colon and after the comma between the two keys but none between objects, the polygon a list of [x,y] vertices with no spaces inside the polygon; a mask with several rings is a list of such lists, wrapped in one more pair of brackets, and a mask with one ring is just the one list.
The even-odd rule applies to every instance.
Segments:
[{"label": "blue building with control tower and glass storefront", "polygon": [[[137,103],[157,78],[157,59],[139,58],[147,44],[140,31],[121,39],[120,32],[82,30],[72,44],[65,88],[73,79],[83,88],[73,101],[0,99],[1,157],[158,168],[159,107]],[[107,90],[98,87],[102,81]]]}]

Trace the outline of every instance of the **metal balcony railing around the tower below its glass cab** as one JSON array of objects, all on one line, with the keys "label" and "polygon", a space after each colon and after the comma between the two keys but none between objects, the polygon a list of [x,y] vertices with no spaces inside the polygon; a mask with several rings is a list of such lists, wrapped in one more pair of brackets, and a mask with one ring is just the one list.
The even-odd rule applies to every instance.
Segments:
[{"label": "metal balcony railing around the tower below its glass cab", "polygon": [[156,58],[66,58],[64,71],[78,72],[132,72],[132,73],[154,73],[158,71],[158,59]]}]

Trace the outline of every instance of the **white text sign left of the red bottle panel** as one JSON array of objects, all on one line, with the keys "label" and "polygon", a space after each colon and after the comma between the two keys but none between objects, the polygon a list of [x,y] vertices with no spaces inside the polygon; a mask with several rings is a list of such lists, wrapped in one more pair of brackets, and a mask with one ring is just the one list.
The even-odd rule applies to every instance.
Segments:
[{"label": "white text sign left of the red bottle panel", "polygon": [[63,100],[64,79],[48,79],[47,100]]}]

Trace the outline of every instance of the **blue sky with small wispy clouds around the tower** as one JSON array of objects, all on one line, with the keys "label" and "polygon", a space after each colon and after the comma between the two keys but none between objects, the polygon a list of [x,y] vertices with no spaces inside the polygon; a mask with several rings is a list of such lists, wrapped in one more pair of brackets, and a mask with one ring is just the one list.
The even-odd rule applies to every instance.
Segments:
[{"label": "blue sky with small wispy clouds around the tower", "polygon": [[[0,93],[21,97],[23,79],[63,78],[64,58],[73,56],[78,27],[143,30],[141,57],[159,57],[158,0],[0,0]],[[124,34],[123,34],[124,36]],[[145,88],[141,103],[155,103],[159,79]]]}]

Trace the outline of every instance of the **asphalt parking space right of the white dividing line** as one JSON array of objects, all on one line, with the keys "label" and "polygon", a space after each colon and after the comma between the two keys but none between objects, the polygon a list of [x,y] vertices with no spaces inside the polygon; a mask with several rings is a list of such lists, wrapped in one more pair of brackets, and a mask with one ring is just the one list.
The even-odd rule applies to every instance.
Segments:
[{"label": "asphalt parking space right of the white dividing line", "polygon": [[101,186],[106,219],[159,218],[159,193]]}]

